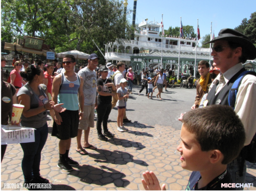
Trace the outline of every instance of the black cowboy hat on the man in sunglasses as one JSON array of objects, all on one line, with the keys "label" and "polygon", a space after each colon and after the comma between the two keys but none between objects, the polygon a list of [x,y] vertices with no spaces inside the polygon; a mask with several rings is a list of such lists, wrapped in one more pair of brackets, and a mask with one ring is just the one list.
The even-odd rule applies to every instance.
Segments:
[{"label": "black cowboy hat on the man in sunglasses", "polygon": [[242,49],[246,50],[248,59],[256,58],[256,47],[249,40],[249,38],[243,33],[235,31],[234,29],[224,28],[219,31],[218,37],[216,37],[212,41],[206,42],[205,44],[214,43],[216,40],[227,40],[227,41],[238,43],[241,45]]}]

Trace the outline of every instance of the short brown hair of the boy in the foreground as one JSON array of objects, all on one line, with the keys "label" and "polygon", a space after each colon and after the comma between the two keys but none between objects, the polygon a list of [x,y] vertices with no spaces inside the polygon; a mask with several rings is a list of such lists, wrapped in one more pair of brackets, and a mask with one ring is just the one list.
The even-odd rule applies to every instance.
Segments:
[{"label": "short brown hair of the boy in the foreground", "polygon": [[183,125],[196,135],[203,152],[218,149],[224,155],[222,164],[235,160],[244,147],[246,134],[240,118],[230,106],[213,105],[189,111]]}]

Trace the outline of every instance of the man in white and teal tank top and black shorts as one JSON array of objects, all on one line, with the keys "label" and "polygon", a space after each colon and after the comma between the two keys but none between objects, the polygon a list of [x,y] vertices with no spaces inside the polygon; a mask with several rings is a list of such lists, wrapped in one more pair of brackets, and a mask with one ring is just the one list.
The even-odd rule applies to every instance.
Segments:
[{"label": "man in white and teal tank top and black shorts", "polygon": [[[57,75],[52,83],[52,100],[64,103],[67,110],[64,113],[55,112],[52,136],[60,139],[60,160],[57,167],[64,171],[72,171],[78,162],[68,157],[71,138],[78,134],[79,118],[84,113],[84,80],[74,72],[76,59],[72,55],[63,58],[65,72]],[[80,112],[79,112],[80,106]]]}]

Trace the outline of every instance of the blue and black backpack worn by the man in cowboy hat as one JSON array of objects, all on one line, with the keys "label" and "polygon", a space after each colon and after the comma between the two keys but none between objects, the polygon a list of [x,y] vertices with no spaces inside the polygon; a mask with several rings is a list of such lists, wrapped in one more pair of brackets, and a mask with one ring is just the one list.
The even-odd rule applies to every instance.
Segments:
[{"label": "blue and black backpack worn by the man in cowboy hat", "polygon": [[[236,101],[236,97],[237,97],[237,93],[238,93],[238,88],[243,80],[243,77],[245,77],[246,75],[256,76],[256,72],[243,71],[238,76],[237,80],[235,80],[234,84],[232,85],[232,88],[229,91],[229,95],[228,95],[229,106],[232,107],[233,109],[235,109],[235,101]],[[249,144],[248,146],[245,146],[242,149],[242,155],[246,161],[251,162],[253,164],[256,163],[256,134],[254,135],[254,137],[251,141],[251,144]]]}]

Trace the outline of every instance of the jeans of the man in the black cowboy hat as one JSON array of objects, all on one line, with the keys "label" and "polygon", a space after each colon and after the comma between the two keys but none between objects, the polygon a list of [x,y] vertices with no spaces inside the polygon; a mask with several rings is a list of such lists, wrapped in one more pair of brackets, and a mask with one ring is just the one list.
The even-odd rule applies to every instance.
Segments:
[{"label": "jeans of the man in the black cowboy hat", "polygon": [[[233,183],[245,183],[246,182],[246,162],[243,166],[243,176],[240,177],[240,165],[242,163],[242,158],[233,160],[227,165],[227,171],[230,173]],[[243,191],[243,188],[237,188],[238,191]]]}]

